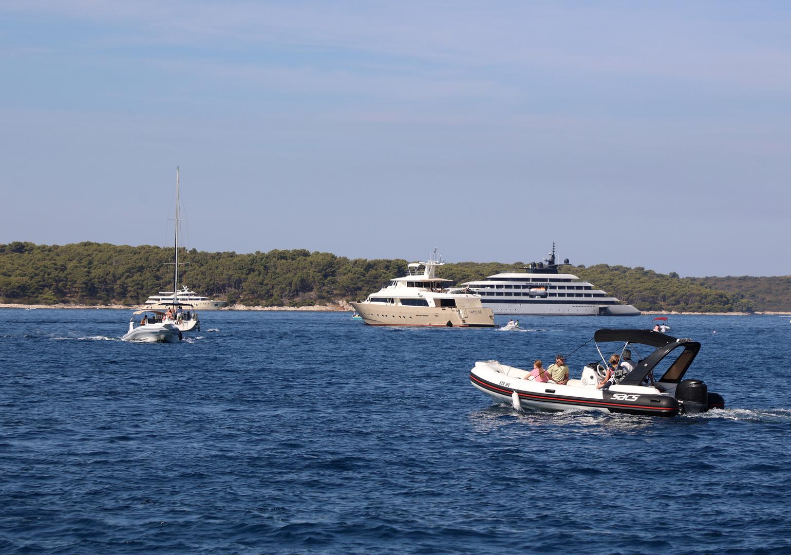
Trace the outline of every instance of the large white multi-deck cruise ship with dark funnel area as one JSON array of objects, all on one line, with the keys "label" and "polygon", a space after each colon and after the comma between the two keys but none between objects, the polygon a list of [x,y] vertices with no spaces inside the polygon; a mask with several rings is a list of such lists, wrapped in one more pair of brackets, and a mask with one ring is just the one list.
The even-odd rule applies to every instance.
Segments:
[{"label": "large white multi-deck cruise ship with dark funnel area", "polygon": [[[569,259],[563,260],[569,264]],[[549,258],[532,262],[525,272],[495,274],[462,283],[481,295],[483,306],[494,314],[547,314],[572,316],[638,316],[640,311],[624,304],[573,274],[558,272],[554,243]]]}]

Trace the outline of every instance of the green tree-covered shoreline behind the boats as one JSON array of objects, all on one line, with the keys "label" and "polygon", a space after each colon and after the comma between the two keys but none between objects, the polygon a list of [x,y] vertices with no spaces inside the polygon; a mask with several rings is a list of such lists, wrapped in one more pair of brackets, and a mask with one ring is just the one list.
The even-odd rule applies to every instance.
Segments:
[{"label": "green tree-covered shoreline behind the boats", "polygon": [[[202,295],[247,306],[306,306],[354,301],[406,275],[407,260],[365,260],[305,249],[237,254],[182,250],[180,283]],[[521,262],[460,262],[438,277],[461,283]],[[791,278],[679,278],[645,268],[566,266],[640,310],[751,312],[789,310]],[[0,245],[0,302],[139,305],[172,288],[172,248],[82,242],[71,245]]]}]

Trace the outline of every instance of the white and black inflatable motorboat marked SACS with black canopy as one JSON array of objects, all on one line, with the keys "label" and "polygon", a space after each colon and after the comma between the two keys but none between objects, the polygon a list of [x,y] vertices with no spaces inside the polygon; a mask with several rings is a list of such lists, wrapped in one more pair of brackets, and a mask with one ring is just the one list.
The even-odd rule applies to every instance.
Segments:
[{"label": "white and black inflatable motorboat marked SACS with black canopy", "polygon": [[[645,329],[600,329],[593,336],[600,360],[587,363],[578,379],[565,385],[536,382],[529,371],[506,366],[496,360],[479,361],[470,371],[470,382],[494,401],[507,401],[514,408],[559,411],[574,408],[603,412],[626,412],[647,416],[694,414],[723,409],[725,401],[711,393],[698,379],[683,379],[700,343]],[[653,348],[634,370],[619,381],[599,389],[607,374],[600,343],[623,344],[620,353],[636,345]],[[654,380],[654,374],[660,375]]]}]

